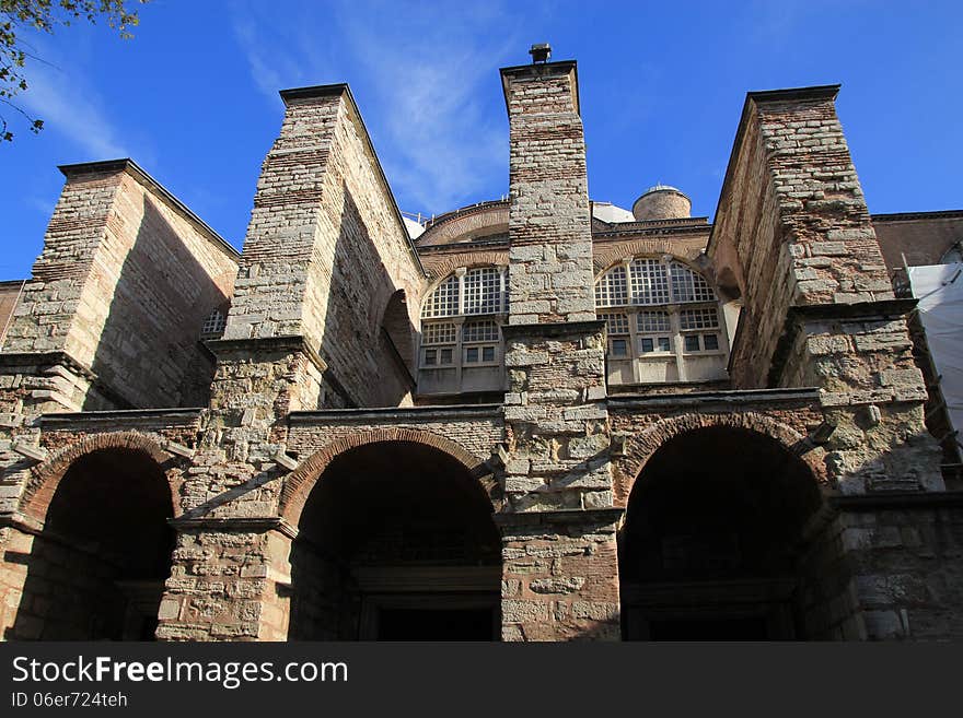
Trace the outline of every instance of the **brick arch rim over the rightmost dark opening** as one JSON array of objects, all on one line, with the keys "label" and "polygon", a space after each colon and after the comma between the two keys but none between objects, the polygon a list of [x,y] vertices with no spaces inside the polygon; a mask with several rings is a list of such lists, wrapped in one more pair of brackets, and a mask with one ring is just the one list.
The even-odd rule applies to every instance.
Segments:
[{"label": "brick arch rim over the rightmost dark opening", "polygon": [[682,414],[658,421],[628,439],[627,459],[622,462],[620,475],[616,481],[616,502],[620,506],[626,505],[646,463],[670,439],[686,432],[711,426],[742,428],[775,439],[787,451],[798,456],[809,467],[813,478],[820,484],[827,482],[825,450],[815,447],[804,454],[801,452],[800,449],[807,446],[805,437],[792,427],[765,414],[752,411],[726,414]]}]

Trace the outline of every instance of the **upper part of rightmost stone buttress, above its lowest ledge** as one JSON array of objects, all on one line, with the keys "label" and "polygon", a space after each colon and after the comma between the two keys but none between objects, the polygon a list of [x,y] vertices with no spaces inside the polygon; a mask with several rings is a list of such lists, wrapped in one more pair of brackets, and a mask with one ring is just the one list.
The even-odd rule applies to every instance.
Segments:
[{"label": "upper part of rightmost stone buttress, above its lowest ledge", "polygon": [[836,117],[835,86],[752,93],[709,254],[743,287],[736,388],[816,386],[845,493],[940,490],[926,388]]}]

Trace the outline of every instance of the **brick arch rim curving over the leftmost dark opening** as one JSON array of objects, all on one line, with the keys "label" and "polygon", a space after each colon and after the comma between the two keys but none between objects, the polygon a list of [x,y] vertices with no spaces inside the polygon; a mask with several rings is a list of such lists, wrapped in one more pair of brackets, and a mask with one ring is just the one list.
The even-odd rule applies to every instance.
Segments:
[{"label": "brick arch rim curving over the leftmost dark opening", "polygon": [[[20,499],[20,511],[43,523],[46,520],[50,501],[60,485],[63,475],[74,461],[88,454],[103,449],[128,449],[147,455],[161,468],[174,458],[175,455],[166,451],[161,446],[163,439],[159,436],[141,434],[140,432],[107,432],[85,436],[74,444],[57,451],[43,463],[32,470],[32,479]],[[171,471],[163,472],[167,486],[171,491],[171,504],[174,516],[181,515],[181,503],[177,496],[181,490],[181,480],[172,475]]]}]

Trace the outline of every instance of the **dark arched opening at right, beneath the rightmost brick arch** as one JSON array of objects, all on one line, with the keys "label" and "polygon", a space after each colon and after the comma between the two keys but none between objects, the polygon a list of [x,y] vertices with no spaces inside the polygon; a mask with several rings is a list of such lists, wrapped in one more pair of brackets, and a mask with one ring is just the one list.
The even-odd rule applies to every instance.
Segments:
[{"label": "dark arched opening at right, beneath the rightmost brick arch", "polygon": [[851,610],[835,543],[814,528],[821,506],[810,468],[776,439],[728,426],[670,439],[619,535],[624,637],[832,636]]}]

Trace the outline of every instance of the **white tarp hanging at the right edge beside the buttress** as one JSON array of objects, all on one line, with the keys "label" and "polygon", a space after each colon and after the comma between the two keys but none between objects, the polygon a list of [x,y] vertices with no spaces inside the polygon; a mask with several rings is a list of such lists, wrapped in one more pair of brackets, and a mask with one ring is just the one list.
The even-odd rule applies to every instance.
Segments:
[{"label": "white tarp hanging at the right edge beside the buttress", "polygon": [[[910,267],[930,355],[956,431],[963,429],[963,263]],[[956,436],[960,440],[960,435]]]}]

